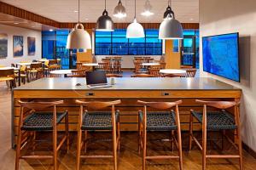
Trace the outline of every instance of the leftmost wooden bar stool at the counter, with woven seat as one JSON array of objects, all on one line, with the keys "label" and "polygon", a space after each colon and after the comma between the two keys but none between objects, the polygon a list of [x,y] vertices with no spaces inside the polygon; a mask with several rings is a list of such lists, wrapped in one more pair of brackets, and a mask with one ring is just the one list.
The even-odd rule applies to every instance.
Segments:
[{"label": "leftmost wooden bar stool at the counter, with woven seat", "polygon": [[[19,170],[20,159],[53,159],[54,169],[57,169],[57,152],[65,141],[67,142],[67,151],[69,150],[68,113],[67,111],[56,111],[56,105],[61,105],[63,103],[63,100],[53,102],[23,102],[19,100],[20,120],[18,127],[15,170]],[[44,109],[51,107],[53,108],[53,111],[44,111]],[[27,111],[27,109],[30,111]],[[57,125],[59,125],[63,119],[65,119],[65,135],[61,139],[60,143],[57,144]],[[36,132],[42,131],[52,131],[53,155],[21,156],[20,151],[26,146],[29,139],[32,140],[33,150],[35,149]],[[23,138],[22,135],[26,133],[29,135]]]}]

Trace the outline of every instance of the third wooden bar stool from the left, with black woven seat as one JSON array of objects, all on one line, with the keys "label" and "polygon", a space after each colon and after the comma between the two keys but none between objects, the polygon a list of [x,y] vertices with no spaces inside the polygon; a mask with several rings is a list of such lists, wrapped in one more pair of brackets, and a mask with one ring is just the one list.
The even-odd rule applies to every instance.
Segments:
[{"label": "third wooden bar stool from the left, with black woven seat", "polygon": [[[139,153],[143,149],[143,170],[146,168],[146,160],[152,159],[179,159],[179,168],[183,169],[182,139],[179,120],[178,105],[182,100],[175,102],[145,102],[138,100],[138,104],[144,106],[143,111],[138,112],[138,148]],[[175,111],[147,111],[147,107],[159,110],[167,110],[175,107]],[[170,131],[171,141],[175,141],[178,150],[178,156],[147,156],[147,131]],[[177,139],[174,137],[174,131],[177,131]]]}]

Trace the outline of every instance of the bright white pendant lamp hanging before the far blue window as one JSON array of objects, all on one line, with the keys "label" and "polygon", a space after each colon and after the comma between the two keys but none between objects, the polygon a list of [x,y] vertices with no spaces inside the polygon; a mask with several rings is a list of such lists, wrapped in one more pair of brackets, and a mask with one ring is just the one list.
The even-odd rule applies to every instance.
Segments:
[{"label": "bright white pendant lamp hanging before the far blue window", "polygon": [[140,38],[145,37],[143,26],[137,23],[136,20],[136,0],[134,5],[135,15],[133,22],[127,27],[126,38]]}]

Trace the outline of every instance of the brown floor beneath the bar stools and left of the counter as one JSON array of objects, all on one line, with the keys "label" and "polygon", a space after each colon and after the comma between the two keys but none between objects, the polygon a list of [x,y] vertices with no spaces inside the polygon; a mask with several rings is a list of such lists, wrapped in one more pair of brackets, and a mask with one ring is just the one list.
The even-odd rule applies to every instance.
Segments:
[{"label": "brown floor beneath the bar stools and left of the counter", "polygon": [[[125,73],[131,74],[131,73]],[[4,82],[0,82],[0,169],[15,169],[15,150],[11,149],[11,93],[6,88]],[[40,139],[50,139],[49,134],[40,135]],[[93,137],[102,138],[108,136],[108,133],[95,133]],[[149,138],[167,138],[168,133],[151,133]],[[109,135],[110,137],[110,135]],[[201,152],[196,147],[190,152],[186,150],[188,133],[183,133],[183,166],[184,169],[197,170],[201,169]],[[65,146],[60,151],[58,160],[60,170],[75,169],[76,163],[76,133],[71,134],[71,151],[66,153]],[[91,143],[89,144],[90,153],[111,153],[111,143]],[[176,154],[171,149],[170,143],[159,143],[156,141],[148,142],[148,154]],[[228,151],[233,151],[227,147]],[[37,146],[40,153],[51,150],[48,145]],[[107,150],[105,152],[104,150]],[[161,150],[161,151],[160,151]],[[213,152],[213,151],[212,151]],[[244,169],[254,170],[256,167],[256,159],[248,155],[246,151],[244,156]],[[86,160],[82,161],[81,169],[113,169],[112,160]],[[141,156],[137,153],[137,133],[121,133],[121,150],[119,153],[119,169],[120,170],[137,170],[142,168]],[[20,169],[24,170],[49,170],[52,169],[51,161],[32,161],[21,160]],[[165,161],[147,161],[147,169],[178,169],[177,160]],[[207,161],[207,169],[239,169],[237,160],[209,160]]]}]

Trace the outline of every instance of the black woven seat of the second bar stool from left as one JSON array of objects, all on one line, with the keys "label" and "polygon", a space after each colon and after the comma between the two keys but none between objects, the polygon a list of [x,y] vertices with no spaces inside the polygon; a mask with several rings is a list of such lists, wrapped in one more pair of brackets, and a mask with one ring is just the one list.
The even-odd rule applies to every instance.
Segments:
[{"label": "black woven seat of the second bar stool from left", "polygon": [[[119,122],[119,112],[116,114],[116,121]],[[105,112],[87,112],[83,117],[82,130],[112,130],[112,114]]]}]

